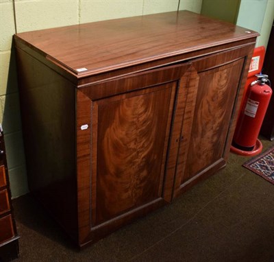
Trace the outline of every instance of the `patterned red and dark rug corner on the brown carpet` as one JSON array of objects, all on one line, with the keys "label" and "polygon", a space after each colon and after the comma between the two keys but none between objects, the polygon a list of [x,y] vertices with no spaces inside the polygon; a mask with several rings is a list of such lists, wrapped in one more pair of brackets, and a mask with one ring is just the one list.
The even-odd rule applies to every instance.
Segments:
[{"label": "patterned red and dark rug corner on the brown carpet", "polygon": [[274,147],[242,165],[274,184]]}]

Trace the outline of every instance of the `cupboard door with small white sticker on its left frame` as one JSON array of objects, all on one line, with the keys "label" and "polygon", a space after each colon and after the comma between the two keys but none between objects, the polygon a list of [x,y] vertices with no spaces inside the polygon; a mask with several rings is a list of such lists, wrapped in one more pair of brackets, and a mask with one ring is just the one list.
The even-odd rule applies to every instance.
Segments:
[{"label": "cupboard door with small white sticker on its left frame", "polygon": [[80,245],[169,201],[166,177],[174,174],[166,163],[188,68],[155,69],[77,92]]}]

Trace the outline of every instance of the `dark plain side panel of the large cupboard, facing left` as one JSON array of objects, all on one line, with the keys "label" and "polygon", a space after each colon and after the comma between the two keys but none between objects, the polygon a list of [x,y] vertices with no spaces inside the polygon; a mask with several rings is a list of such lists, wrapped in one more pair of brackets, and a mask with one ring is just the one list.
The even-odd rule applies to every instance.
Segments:
[{"label": "dark plain side panel of the large cupboard, facing left", "polygon": [[16,49],[29,190],[77,237],[75,87]]}]

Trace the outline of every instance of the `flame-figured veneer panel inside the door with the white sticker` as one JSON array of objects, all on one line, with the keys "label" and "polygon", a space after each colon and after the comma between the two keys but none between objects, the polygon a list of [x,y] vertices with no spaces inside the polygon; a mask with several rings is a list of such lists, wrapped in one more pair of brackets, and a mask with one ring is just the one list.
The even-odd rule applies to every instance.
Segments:
[{"label": "flame-figured veneer panel inside the door with the white sticker", "polygon": [[172,86],[98,105],[96,224],[162,197]]}]

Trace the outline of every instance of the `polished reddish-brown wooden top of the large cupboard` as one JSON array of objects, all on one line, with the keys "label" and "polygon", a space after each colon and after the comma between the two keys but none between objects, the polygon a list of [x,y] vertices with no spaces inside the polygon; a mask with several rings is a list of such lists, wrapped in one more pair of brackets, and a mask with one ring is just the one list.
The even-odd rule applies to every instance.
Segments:
[{"label": "polished reddish-brown wooden top of the large cupboard", "polygon": [[179,11],[43,29],[14,37],[80,77],[256,36],[258,33],[231,23]]}]

